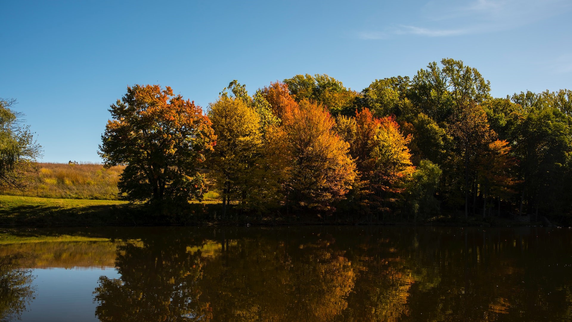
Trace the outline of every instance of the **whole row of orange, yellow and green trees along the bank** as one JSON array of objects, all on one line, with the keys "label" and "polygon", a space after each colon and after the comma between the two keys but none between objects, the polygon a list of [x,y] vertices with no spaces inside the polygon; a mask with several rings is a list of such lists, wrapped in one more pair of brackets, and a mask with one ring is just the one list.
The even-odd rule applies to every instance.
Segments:
[{"label": "whole row of orange, yellow and green trees along the bank", "polygon": [[[550,218],[572,206],[571,98],[566,89],[494,98],[478,70],[450,58],[361,92],[325,74],[296,75],[254,95],[233,81],[208,117],[170,88],[137,85],[112,105],[100,148],[108,166],[127,164],[125,198],[200,198],[209,186],[221,193],[223,216]],[[174,119],[183,114],[175,110],[186,111],[190,141],[177,139],[184,131]]]}]

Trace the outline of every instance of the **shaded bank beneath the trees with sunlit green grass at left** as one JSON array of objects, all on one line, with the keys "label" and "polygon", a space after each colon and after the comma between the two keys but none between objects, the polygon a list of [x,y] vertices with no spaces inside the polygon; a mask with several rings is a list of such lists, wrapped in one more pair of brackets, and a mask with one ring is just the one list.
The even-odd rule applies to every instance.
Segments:
[{"label": "shaded bank beneath the trees with sunlit green grass at left", "polygon": [[196,202],[184,206],[144,205],[122,201],[51,199],[0,195],[0,225],[10,226],[283,226],[283,225],[434,225],[434,226],[523,226],[567,225],[542,218],[470,217],[443,214],[423,222],[406,218],[363,217],[358,214],[280,213],[250,214],[237,209],[223,214],[220,203]]}]

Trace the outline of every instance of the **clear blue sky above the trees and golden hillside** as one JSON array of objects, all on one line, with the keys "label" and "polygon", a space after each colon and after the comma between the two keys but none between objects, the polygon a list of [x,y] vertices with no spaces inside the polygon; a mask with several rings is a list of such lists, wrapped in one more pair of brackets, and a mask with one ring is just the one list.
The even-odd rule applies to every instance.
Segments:
[{"label": "clear blue sky above the trees and golden hillside", "polygon": [[492,95],[572,88],[572,2],[3,1],[0,97],[43,162],[101,162],[108,108],[160,84],[206,108],[233,79],[249,92],[325,73],[361,91],[450,57]]}]

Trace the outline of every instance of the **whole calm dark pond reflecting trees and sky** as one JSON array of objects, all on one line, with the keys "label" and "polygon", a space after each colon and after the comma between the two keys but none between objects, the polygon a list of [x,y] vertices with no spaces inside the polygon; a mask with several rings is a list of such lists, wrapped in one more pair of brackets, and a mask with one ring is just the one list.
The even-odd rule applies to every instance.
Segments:
[{"label": "whole calm dark pond reflecting trees and sky", "polygon": [[570,321],[571,272],[568,228],[4,228],[0,321]]}]

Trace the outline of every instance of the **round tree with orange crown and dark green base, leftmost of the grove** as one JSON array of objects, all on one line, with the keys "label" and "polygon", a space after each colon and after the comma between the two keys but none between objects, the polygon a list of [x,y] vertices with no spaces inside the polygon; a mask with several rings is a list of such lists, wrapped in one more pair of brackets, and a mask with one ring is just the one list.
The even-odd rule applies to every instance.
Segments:
[{"label": "round tree with orange crown and dark green base, leftmost of the grove", "polygon": [[106,167],[124,164],[118,187],[129,201],[186,202],[201,198],[197,167],[213,150],[215,135],[202,109],[170,87],[135,85],[109,112],[99,154]]}]

